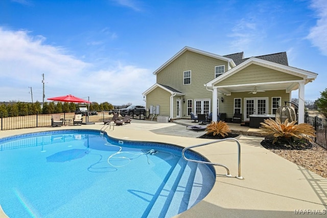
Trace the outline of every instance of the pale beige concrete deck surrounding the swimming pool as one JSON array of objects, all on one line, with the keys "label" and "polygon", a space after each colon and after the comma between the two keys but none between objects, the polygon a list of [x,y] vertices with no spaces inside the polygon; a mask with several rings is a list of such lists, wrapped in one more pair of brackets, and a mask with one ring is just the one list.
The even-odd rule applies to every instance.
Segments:
[{"label": "pale beige concrete deck surrounding the swimming pool", "polygon": [[[184,122],[188,125],[187,120]],[[0,137],[63,129],[100,130],[102,126],[102,123],[96,123],[6,130],[0,131]],[[132,120],[131,124],[115,126],[114,131],[108,130],[107,133],[114,138],[166,142],[182,147],[212,141],[196,138],[204,131],[186,129],[176,123],[147,120]],[[327,179],[266,150],[260,144],[262,137],[240,135],[236,139],[241,144],[241,176],[244,179],[235,178],[238,173],[235,142],[214,143],[194,149],[212,162],[227,165],[233,177],[225,177],[225,169],[215,166],[217,177],[212,191],[200,203],[176,217],[299,217],[298,214],[309,217],[313,213],[327,216]]]}]

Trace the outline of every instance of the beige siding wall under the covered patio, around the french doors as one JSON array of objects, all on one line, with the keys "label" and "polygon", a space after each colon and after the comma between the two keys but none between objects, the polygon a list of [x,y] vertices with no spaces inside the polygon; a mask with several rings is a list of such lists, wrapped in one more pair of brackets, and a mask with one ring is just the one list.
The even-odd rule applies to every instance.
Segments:
[{"label": "beige siding wall under the covered patio, around the french doors", "polygon": [[[221,97],[224,98],[224,102],[222,103],[220,101]],[[274,90],[274,91],[266,91],[266,92],[257,92],[256,94],[248,93],[248,92],[232,92],[231,95],[221,95],[218,94],[219,99],[219,113],[226,113],[226,117],[232,117],[233,116],[233,110],[234,110],[234,99],[235,98],[241,98],[241,112],[243,114],[244,112],[244,98],[268,98],[268,113],[272,114],[271,111],[271,98],[272,97],[281,97],[281,106],[285,105],[285,101],[290,101],[290,93],[287,93],[285,90]],[[244,119],[244,114],[242,115],[242,120]]]}]

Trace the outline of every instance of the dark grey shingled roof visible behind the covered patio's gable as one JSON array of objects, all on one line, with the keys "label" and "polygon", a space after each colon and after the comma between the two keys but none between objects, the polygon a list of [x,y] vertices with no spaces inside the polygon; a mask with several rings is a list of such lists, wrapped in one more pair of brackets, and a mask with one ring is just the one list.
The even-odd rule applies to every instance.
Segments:
[{"label": "dark grey shingled roof visible behind the covered patio's gable", "polygon": [[[244,58],[244,53],[236,53],[231,55],[224,55],[224,57],[231,58],[235,62],[236,65],[239,65],[243,63],[244,61],[250,59],[250,58]],[[280,52],[275,54],[269,54],[269,55],[262,55],[262,56],[255,56],[254,58],[259,58],[266,61],[271,61],[278,64],[283,64],[288,66],[288,60],[287,60],[287,54],[286,52]]]}]

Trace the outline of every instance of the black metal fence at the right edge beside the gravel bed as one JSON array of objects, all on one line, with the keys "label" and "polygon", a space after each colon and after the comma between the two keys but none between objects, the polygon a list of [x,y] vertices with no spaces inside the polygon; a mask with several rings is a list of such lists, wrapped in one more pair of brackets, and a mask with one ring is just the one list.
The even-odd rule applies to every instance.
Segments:
[{"label": "black metal fence at the right edge beside the gravel bed", "polygon": [[305,123],[311,124],[316,130],[315,142],[327,149],[327,119],[318,116],[305,115]]}]

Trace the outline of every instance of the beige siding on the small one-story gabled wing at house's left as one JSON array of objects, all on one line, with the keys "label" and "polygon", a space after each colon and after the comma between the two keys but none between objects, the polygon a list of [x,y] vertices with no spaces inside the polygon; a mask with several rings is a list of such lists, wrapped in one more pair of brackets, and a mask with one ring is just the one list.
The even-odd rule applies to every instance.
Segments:
[{"label": "beige siding on the small one-story gabled wing at house's left", "polygon": [[162,88],[153,89],[147,94],[147,108],[150,108],[150,105],[159,105],[159,116],[170,116],[170,96],[171,94]]}]

